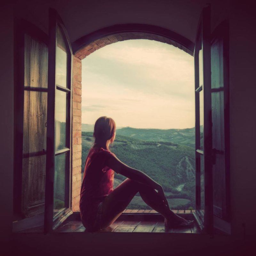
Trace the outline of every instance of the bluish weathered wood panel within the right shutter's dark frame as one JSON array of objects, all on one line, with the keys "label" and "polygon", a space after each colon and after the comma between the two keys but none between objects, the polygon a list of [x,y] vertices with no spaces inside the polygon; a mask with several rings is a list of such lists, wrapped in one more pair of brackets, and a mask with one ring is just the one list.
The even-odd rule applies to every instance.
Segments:
[{"label": "bluish weathered wood panel within the right shutter's dark frame", "polygon": [[222,218],[226,211],[225,133],[224,133],[224,80],[223,40],[216,39],[211,47],[212,69],[212,148],[213,164],[213,213]]}]

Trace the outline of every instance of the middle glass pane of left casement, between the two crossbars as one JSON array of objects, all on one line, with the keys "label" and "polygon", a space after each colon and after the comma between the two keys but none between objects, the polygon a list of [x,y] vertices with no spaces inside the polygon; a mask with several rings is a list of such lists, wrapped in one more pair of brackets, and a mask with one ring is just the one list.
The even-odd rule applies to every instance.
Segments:
[{"label": "middle glass pane of left casement, between the two crossbars", "polygon": [[55,150],[66,148],[67,93],[56,90],[55,96]]}]

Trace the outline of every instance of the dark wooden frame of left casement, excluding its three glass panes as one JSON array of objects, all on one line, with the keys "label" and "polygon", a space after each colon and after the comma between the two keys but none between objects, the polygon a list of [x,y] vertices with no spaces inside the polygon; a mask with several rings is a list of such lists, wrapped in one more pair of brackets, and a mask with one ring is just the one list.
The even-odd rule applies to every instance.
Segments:
[{"label": "dark wooden frame of left casement, excluding its three glass panes", "polygon": [[[67,47],[67,87],[57,85],[56,75],[56,49],[57,27],[63,35]],[[56,10],[49,9],[49,47],[48,47],[48,98],[47,98],[47,156],[45,180],[45,212],[44,233],[53,232],[73,212],[71,211],[71,182],[72,182],[72,87],[73,87],[73,51],[67,30]],[[67,93],[66,101],[66,147],[55,150],[55,95],[57,90]],[[68,97],[69,96],[69,97]],[[67,122],[68,121],[68,122]],[[54,177],[55,157],[67,154],[65,165],[65,207],[55,215],[54,207]]]}]

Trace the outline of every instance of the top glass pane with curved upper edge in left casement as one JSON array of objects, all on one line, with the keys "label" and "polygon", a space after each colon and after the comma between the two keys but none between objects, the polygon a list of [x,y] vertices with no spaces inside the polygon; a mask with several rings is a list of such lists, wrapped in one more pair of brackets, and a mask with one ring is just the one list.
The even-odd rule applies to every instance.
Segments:
[{"label": "top glass pane with curved upper edge in left casement", "polygon": [[60,27],[57,26],[56,84],[67,87],[67,49]]}]

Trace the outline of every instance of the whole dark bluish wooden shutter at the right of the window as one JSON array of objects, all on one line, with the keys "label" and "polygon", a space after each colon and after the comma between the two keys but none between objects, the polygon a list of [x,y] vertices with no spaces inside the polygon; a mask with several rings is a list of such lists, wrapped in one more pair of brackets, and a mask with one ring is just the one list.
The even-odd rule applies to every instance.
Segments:
[{"label": "whole dark bluish wooden shutter at the right of the window", "polygon": [[212,34],[213,215],[229,220],[228,23]]}]

